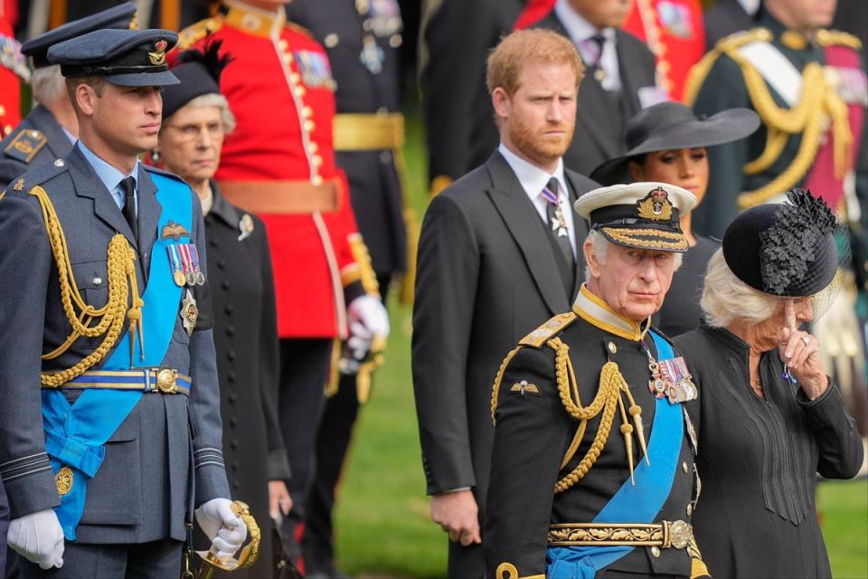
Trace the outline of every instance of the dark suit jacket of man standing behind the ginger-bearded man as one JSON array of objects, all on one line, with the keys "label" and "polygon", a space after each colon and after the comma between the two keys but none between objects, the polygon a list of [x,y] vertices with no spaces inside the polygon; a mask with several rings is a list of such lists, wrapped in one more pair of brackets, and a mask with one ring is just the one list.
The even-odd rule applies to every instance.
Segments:
[{"label": "dark suit jacket of man standing behind the ginger-bearded man", "polygon": [[[553,11],[533,24],[533,27],[548,28],[569,38],[566,28]],[[615,45],[621,77],[620,109],[590,71],[586,71],[579,85],[576,133],[563,156],[563,162],[573,171],[584,175],[590,174],[595,167],[610,158],[626,152],[621,133],[627,120],[642,108],[638,90],[655,85],[654,54],[645,43],[633,34],[616,29]]]}]

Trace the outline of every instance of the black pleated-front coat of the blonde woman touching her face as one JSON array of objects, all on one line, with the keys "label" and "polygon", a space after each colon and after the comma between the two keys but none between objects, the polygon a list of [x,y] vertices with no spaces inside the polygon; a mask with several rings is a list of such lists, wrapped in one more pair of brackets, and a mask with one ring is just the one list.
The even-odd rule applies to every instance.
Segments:
[{"label": "black pleated-front coat of the blonde woman touching her face", "polygon": [[816,520],[815,473],[849,479],[862,466],[862,441],[841,392],[807,400],[781,378],[777,350],[760,359],[765,398],[750,387],[748,345],[703,326],[675,344],[699,388],[691,403],[699,429],[703,491],[693,532],[713,577],[831,577]]}]

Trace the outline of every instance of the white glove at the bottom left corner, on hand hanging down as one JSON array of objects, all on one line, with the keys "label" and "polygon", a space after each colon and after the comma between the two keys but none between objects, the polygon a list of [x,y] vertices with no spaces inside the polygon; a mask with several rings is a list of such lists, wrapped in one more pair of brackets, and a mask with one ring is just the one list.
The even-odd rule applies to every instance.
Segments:
[{"label": "white glove at the bottom left corner, on hand hanging down", "polygon": [[53,508],[12,519],[9,546],[41,569],[63,566],[63,529]]}]

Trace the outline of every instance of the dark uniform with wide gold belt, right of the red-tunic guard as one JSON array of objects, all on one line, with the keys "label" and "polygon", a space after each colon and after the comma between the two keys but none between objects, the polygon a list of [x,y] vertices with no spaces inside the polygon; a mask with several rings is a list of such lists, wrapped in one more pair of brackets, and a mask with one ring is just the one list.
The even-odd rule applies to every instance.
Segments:
[{"label": "dark uniform with wide gold belt, right of the red-tunic guard", "polygon": [[[292,22],[325,46],[337,83],[336,163],[346,174],[355,221],[386,298],[392,275],[407,268],[400,162],[401,12],[395,0],[297,0]],[[397,157],[397,158],[396,158]],[[316,437],[316,478],[304,507],[302,541],[308,573],[332,573],[335,485],[359,409],[355,375],[341,375],[330,392]]]}]

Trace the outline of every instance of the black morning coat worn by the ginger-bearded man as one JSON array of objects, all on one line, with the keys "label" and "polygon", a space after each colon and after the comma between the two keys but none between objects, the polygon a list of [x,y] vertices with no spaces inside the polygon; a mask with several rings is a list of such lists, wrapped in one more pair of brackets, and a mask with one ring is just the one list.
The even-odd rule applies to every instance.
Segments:
[{"label": "black morning coat worn by the ginger-bearded man", "polygon": [[[597,186],[572,171],[566,179],[573,195]],[[581,248],[587,225],[574,221]],[[568,311],[576,294],[563,287],[548,235],[496,152],[435,197],[422,223],[412,338],[422,462],[429,494],[471,487],[480,519],[497,368],[534,327]],[[580,257],[577,284],[583,271]]]}]

